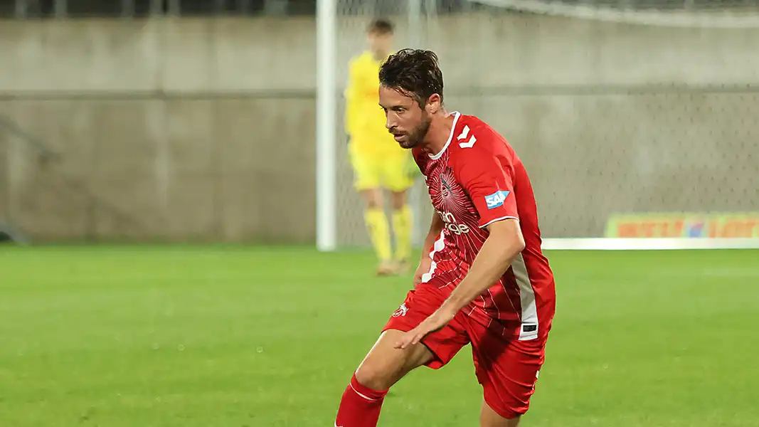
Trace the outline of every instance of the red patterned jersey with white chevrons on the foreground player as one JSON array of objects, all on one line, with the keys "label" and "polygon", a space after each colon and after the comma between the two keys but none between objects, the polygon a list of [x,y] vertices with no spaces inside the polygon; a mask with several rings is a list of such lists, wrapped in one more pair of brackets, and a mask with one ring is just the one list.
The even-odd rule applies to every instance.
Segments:
[{"label": "red patterned jersey with white chevrons on the foreground player", "polygon": [[467,308],[469,315],[501,334],[532,340],[553,318],[553,273],[540,248],[540,229],[532,185],[512,147],[489,125],[471,115],[454,116],[451,134],[440,153],[414,148],[430,199],[445,223],[433,245],[430,272],[453,289],[465,277],[489,236],[487,226],[519,220],[524,251],[509,270]]}]

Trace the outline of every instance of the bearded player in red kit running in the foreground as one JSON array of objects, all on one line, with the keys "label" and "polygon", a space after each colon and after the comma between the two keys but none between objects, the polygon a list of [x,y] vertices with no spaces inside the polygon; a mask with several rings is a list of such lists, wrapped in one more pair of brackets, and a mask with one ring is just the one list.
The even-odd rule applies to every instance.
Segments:
[{"label": "bearded player in red kit running in the foreground", "polygon": [[391,55],[379,82],[386,127],[412,150],[436,213],[414,289],[354,372],[335,425],[375,427],[392,384],[471,344],[480,425],[514,427],[543,365],[556,299],[527,172],[493,128],[446,112],[435,53]]}]

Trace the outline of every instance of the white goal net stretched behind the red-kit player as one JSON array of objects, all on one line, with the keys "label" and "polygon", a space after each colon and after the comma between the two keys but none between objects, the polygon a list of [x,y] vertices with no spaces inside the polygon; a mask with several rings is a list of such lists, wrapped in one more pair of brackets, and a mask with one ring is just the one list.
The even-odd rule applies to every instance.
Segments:
[{"label": "white goal net stretched behind the red-kit player", "polygon": [[[759,237],[756,0],[336,0],[339,247],[368,242],[341,94],[373,17],[437,52],[448,109],[515,147],[543,237]],[[418,242],[422,182],[412,203]]]}]

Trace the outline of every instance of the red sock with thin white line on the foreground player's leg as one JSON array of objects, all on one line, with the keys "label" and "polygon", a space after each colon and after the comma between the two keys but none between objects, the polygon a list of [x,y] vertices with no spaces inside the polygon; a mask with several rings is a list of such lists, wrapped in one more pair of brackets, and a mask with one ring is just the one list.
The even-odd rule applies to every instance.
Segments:
[{"label": "red sock with thin white line on the foreground player's leg", "polygon": [[345,389],[337,411],[336,427],[376,427],[379,410],[387,391],[376,391],[361,385],[356,375]]}]

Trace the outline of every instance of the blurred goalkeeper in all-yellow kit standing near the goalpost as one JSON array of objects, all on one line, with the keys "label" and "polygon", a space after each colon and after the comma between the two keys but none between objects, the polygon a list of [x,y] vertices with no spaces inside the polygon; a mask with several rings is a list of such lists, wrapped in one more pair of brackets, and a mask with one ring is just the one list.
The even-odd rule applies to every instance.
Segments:
[{"label": "blurred goalkeeper in all-yellow kit standing near the goalpost", "polygon": [[[379,65],[390,55],[393,25],[377,19],[367,27],[369,49],[351,59],[345,90],[345,130],[354,169],[355,188],[366,201],[364,220],[379,258],[378,275],[407,270],[411,255],[411,209],[408,188],[414,184],[411,155],[398,146],[385,128],[379,106]],[[395,257],[390,245],[388,220],[383,209],[383,189],[391,193]]]}]

